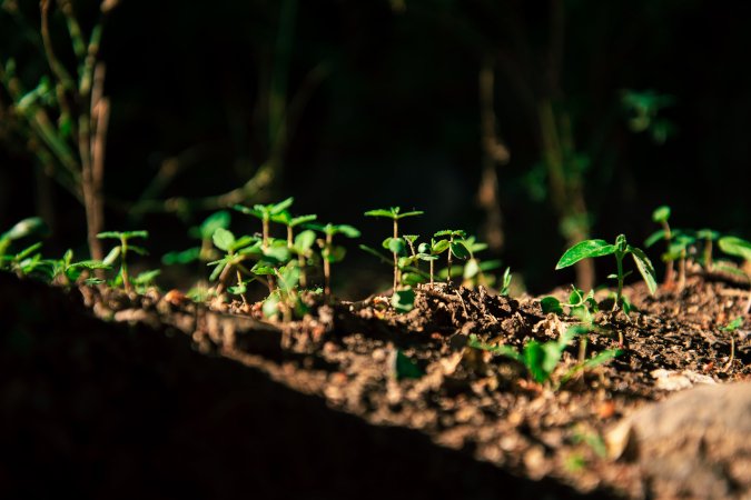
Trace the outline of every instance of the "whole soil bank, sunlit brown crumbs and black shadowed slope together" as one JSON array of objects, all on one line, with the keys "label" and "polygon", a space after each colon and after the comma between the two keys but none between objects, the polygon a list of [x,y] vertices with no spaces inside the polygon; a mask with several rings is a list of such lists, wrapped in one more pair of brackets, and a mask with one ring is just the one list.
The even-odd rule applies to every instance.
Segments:
[{"label": "whole soil bank, sunlit brown crumbs and black shadowed slope together", "polygon": [[751,380],[748,329],[723,330],[749,290],[695,272],[680,292],[624,293],[634,310],[599,297],[585,336],[587,357],[623,356],[557,387],[579,342],[546,384],[467,346],[521,349],[576,323],[533,297],[423,286],[398,314],[384,296],[312,296],[303,320],[267,322],[178,292],[0,276],[0,497],[686,497],[613,429],[692,386]]}]

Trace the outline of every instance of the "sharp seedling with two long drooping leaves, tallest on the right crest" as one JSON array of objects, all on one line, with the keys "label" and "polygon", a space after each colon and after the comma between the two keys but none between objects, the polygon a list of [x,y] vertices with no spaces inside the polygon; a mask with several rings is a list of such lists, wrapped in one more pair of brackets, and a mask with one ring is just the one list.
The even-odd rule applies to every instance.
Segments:
[{"label": "sharp seedling with two long drooping leaves, tallest on the right crest", "polygon": [[[631,254],[636,264],[636,269],[641,273],[646,287],[650,290],[650,293],[654,294],[654,291],[658,288],[658,284],[654,280],[654,268],[652,262],[646,257],[643,250],[632,247],[626,242],[626,238],[623,234],[619,234],[615,239],[615,243],[607,243],[605,240],[584,240],[581,241],[569,250],[566,250],[559,263],[555,264],[555,269],[567,268],[573,266],[582,259],[602,257],[602,256],[615,256],[615,262],[617,266],[617,274],[611,274],[609,278],[615,278],[617,280],[617,291],[615,293],[615,302],[613,303],[613,311],[616,311],[621,304],[624,304],[625,309],[630,309],[629,302],[623,300],[623,280],[626,277],[623,272],[623,258],[626,254]],[[625,310],[628,314],[628,310]]]}]

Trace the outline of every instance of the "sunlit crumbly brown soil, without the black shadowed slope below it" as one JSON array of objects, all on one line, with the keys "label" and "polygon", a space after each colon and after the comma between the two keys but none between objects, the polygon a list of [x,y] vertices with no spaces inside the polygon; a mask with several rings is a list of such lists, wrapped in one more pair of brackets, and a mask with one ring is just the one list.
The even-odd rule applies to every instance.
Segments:
[{"label": "sunlit crumbly brown soil, without the black shadowed slope below it", "polygon": [[[70,293],[78,297],[76,290]],[[655,481],[609,433],[624,417],[675,391],[751,380],[748,322],[724,329],[744,316],[749,290],[695,273],[680,292],[660,290],[651,297],[636,284],[624,293],[634,310],[613,313],[612,301],[601,298],[596,328],[572,342],[551,381],[540,384],[520,363],[467,346],[475,334],[521,349],[530,340],[555,340],[579,323],[543,313],[538,298],[442,283],[419,287],[407,313],[396,313],[388,297],[330,303],[307,297],[309,313],[302,320],[266,322],[257,307],[239,303],[208,308],[179,293],[127,297],[80,289],[86,308],[100,319],[182,332],[205,357],[238,362],[372,427],[409,429],[436,449],[456,450],[473,463],[542,484],[534,494],[678,498],[683,493]],[[565,290],[554,294],[567,297]],[[624,353],[569,378],[582,356],[616,348]],[[397,368],[405,362],[418,374]],[[480,491],[476,487],[457,493],[492,498],[470,494]],[[748,498],[749,492],[732,494]]]}]

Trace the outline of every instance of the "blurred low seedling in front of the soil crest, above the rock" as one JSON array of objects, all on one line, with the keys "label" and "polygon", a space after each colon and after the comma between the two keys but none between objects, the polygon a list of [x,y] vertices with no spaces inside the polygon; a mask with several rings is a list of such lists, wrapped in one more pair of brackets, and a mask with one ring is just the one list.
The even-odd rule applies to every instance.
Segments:
[{"label": "blurred low seedling in front of the soil crest, above the rock", "polygon": [[[550,340],[544,343],[536,340],[530,340],[524,344],[522,352],[510,346],[496,346],[481,342],[475,334],[470,336],[467,346],[510,358],[523,364],[535,382],[550,384],[553,372],[561,362],[565,349],[574,338],[589,331],[589,327],[569,327],[557,340]],[[609,349],[576,363],[561,377],[557,383],[553,386],[553,389],[560,388],[580,371],[599,367],[622,353],[623,351],[620,349]]]}]

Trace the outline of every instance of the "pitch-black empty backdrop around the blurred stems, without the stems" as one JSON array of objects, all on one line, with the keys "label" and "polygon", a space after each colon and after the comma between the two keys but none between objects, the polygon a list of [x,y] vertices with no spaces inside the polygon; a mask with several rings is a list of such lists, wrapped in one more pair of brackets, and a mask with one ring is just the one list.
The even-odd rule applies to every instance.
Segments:
[{"label": "pitch-black empty backdrop around the blurred stems, without the stems", "polygon": [[[33,24],[38,2],[19,3]],[[90,26],[86,13],[96,2],[75,4]],[[284,6],[291,13],[280,13]],[[107,229],[149,229],[155,256],[186,248],[186,229],[207,212],[135,219],[128,204],[175,157],[188,161],[161,198],[244,183],[268,156],[269,81],[288,53],[286,94],[308,89],[309,99],[271,187],[249,203],[294,196],[296,213],[352,223],[370,244],[389,227],[362,212],[394,204],[426,211],[407,232],[480,232],[477,81],[483,61],[492,61],[497,132],[511,152],[497,167],[505,236],[497,257],[531,291],[573,276],[553,271],[565,240],[544,189],[542,198],[528,189],[545,186],[544,178],[530,181],[542,160],[542,99],[567,113],[576,150],[590,159],[583,179],[593,237],[624,232],[641,242],[655,229],[652,210],[665,203],[676,227],[748,238],[750,14],[748,2],[709,0],[123,0],[102,41],[112,102]],[[278,36],[280,19],[288,36]],[[18,38],[14,21],[0,13],[0,57],[14,57],[32,79],[45,61]],[[306,87],[314,68],[325,77]],[[660,113],[675,133],[661,144],[629,130],[624,89],[673,96]],[[34,213],[38,192],[32,156],[13,133],[0,140],[6,228]],[[82,209],[59,189],[53,203],[46,251],[85,248]],[[240,214],[233,222],[237,232],[258,230]],[[348,272],[369,280],[381,271],[349,247]],[[387,283],[387,269],[382,274]]]}]

